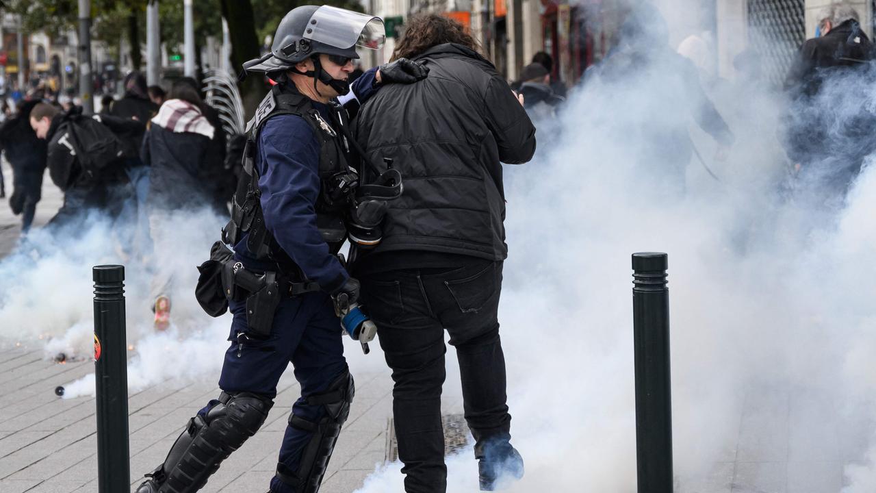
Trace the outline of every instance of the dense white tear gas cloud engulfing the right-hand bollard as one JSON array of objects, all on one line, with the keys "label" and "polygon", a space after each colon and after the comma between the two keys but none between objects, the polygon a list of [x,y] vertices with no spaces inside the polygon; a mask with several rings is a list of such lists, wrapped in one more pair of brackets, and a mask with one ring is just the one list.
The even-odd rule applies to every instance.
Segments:
[{"label": "dense white tear gas cloud engulfing the right-hand bollard", "polygon": [[[695,6],[664,4],[666,14]],[[653,30],[659,23],[652,20],[639,28]],[[622,48],[620,58],[605,62],[621,64],[622,77],[609,76],[618,65],[588,74],[560,125],[536,124],[535,159],[505,167],[510,252],[499,319],[512,443],[526,461],[526,476],[508,491],[635,491],[629,274],[638,251],[669,254],[678,490],[706,491],[716,474],[729,489],[738,454],[767,461],[775,453],[769,440],[753,449],[740,443],[743,432],[769,437],[774,423],[789,426],[788,414],[803,414],[813,425],[799,431],[802,439],[789,439],[778,459],[788,461],[788,484],[811,477],[795,472],[792,461],[804,468],[837,461],[849,464],[844,493],[872,491],[876,446],[868,452],[866,439],[874,429],[876,293],[865,280],[876,275],[876,170],[865,166],[838,206],[811,199],[822,194],[818,182],[791,181],[788,190],[792,163],[777,132],[783,96],[739,78],[706,84],[735,135],[727,159],[715,160],[715,139],[696,124],[689,91],[678,90],[689,81],[657,62],[667,54],[641,48]],[[831,127],[843,128],[876,98],[860,79],[833,82],[816,105],[834,118]],[[696,154],[679,170],[671,132],[679,128],[720,182]],[[844,144],[856,142],[837,145]],[[680,172],[681,188],[672,176]],[[458,379],[448,382],[458,386]],[[795,405],[784,415],[761,408],[770,398]],[[746,420],[754,428],[740,430],[743,413],[759,412]],[[837,447],[837,436],[846,435],[864,438]],[[729,474],[719,468],[727,464]],[[470,449],[450,457],[448,467],[448,491],[476,487]],[[783,465],[782,482],[785,472]],[[834,489],[824,491],[839,491],[838,466],[836,473]],[[403,490],[392,464],[358,491]]]}]

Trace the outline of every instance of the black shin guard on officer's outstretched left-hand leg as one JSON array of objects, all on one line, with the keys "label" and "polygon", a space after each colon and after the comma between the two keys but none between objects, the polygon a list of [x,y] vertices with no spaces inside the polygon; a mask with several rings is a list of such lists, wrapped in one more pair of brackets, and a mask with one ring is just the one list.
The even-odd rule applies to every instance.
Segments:
[{"label": "black shin guard on officer's outstretched left-hand leg", "polygon": [[206,416],[195,415],[164,463],[137,493],[191,493],[201,489],[219,464],[265,423],[271,399],[246,392],[222,393]]}]

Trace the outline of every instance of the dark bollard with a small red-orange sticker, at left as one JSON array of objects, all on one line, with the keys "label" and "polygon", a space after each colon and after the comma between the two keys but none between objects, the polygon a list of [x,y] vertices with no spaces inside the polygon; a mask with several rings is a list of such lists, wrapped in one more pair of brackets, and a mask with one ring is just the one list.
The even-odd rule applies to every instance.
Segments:
[{"label": "dark bollard with a small red-orange sticker, at left", "polygon": [[102,265],[95,267],[92,273],[95,280],[97,491],[118,493],[131,490],[124,267]]}]

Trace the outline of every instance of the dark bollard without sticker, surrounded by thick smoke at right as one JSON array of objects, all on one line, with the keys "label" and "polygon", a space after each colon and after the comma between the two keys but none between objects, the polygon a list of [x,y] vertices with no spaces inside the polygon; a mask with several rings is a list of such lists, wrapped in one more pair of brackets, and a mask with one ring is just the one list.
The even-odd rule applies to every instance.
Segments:
[{"label": "dark bollard without sticker, surrounded by thick smoke at right", "polygon": [[639,493],[672,493],[667,254],[632,254]]}]

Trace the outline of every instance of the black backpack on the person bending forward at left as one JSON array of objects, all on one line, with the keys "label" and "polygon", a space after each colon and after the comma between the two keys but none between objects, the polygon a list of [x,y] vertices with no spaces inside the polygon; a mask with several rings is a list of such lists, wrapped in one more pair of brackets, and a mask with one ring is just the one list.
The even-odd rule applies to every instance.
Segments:
[{"label": "black backpack on the person bending forward at left", "polygon": [[110,164],[125,159],[125,146],[109,127],[82,114],[72,114],[67,119],[76,157],[88,175],[94,176]]}]

